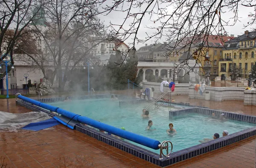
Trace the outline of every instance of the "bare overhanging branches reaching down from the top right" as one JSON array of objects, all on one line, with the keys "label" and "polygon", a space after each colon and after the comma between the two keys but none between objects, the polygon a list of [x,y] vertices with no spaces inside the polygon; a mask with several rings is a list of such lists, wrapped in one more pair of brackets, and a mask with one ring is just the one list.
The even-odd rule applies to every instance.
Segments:
[{"label": "bare overhanging branches reaching down from the top right", "polygon": [[[207,61],[208,36],[221,38],[220,34],[228,34],[225,26],[240,21],[238,10],[242,6],[254,9],[256,4],[253,0],[116,0],[104,9],[125,14],[121,23],[112,22],[109,26],[116,38],[123,41],[133,38],[133,46],[138,42],[165,40],[166,57],[173,52],[189,51],[193,55],[197,53],[197,61]],[[255,12],[248,13],[248,17],[251,20],[245,27],[255,23]],[[140,38],[139,30],[143,30],[146,37]],[[190,56],[177,66],[189,66]]]}]

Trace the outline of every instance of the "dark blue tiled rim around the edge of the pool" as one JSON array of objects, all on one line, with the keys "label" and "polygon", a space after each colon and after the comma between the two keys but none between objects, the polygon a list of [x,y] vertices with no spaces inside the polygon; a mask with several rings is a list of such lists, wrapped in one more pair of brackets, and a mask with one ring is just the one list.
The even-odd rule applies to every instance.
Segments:
[{"label": "dark blue tiled rim around the edge of the pool", "polygon": [[[31,110],[44,111],[45,113],[49,114],[50,116],[54,116],[52,113],[49,113],[48,111],[41,109],[40,107],[33,106],[32,104],[29,104],[27,102],[17,100],[16,103],[20,104],[22,106],[25,106]],[[215,113],[215,115],[217,117],[221,113],[224,113],[225,116],[227,115],[228,119],[234,119],[234,120],[243,121],[243,122],[253,121],[253,123],[256,123],[255,116],[248,116],[248,115],[238,114],[238,113],[230,113],[230,112],[225,112],[225,111],[221,111],[221,110],[211,110],[211,109],[206,109],[206,108],[201,108],[201,107],[192,107],[192,108],[187,108],[187,109],[182,109],[182,110],[169,111],[170,117],[182,116],[182,115],[185,115],[188,113],[200,113],[200,114],[204,114],[204,115],[212,115],[212,113]],[[225,137],[214,139],[212,141],[205,142],[203,144],[195,145],[195,146],[192,146],[192,147],[180,150],[180,151],[173,152],[172,154],[169,155],[169,158],[163,157],[163,159],[160,160],[159,159],[160,155],[157,153],[148,151],[144,148],[141,148],[141,147],[131,144],[129,142],[125,142],[125,141],[116,139],[113,136],[109,136],[108,134],[100,133],[99,131],[94,130],[90,127],[76,125],[75,129],[81,133],[84,133],[84,134],[87,134],[88,136],[96,138],[99,141],[107,143],[108,145],[119,148],[122,151],[126,151],[129,154],[137,156],[141,159],[144,159],[148,162],[151,162],[155,165],[159,165],[161,167],[172,165],[177,162],[183,161],[185,159],[189,159],[191,157],[198,156],[200,154],[205,154],[209,151],[213,151],[218,148],[222,148],[224,146],[230,145],[232,143],[235,143],[240,140],[243,140],[243,139],[246,139],[246,138],[256,135],[256,127],[251,127],[246,130],[242,130],[242,131],[230,134]]]}]

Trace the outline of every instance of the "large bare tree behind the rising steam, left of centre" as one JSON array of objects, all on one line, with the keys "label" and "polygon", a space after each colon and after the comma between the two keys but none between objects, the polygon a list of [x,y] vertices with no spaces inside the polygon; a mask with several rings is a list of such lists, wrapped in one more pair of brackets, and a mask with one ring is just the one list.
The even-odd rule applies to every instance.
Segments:
[{"label": "large bare tree behind the rising steam, left of centre", "polygon": [[31,46],[35,54],[22,48],[20,50],[41,68],[44,76],[45,66],[54,67],[51,80],[53,82],[57,75],[59,88],[63,90],[68,76],[76,66],[83,67],[86,61],[94,60],[91,49],[102,41],[108,41],[109,37],[98,18],[96,3],[50,0],[42,10],[47,25],[38,24],[35,20],[29,26],[29,30],[33,32],[33,40],[23,41],[26,46],[29,43],[33,45],[33,41],[42,43]]}]

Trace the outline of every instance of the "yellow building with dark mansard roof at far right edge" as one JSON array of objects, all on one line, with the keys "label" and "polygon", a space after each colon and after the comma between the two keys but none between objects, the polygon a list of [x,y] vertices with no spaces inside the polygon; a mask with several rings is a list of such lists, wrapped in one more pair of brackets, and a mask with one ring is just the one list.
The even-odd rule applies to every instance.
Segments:
[{"label": "yellow building with dark mansard roof at far right edge", "polygon": [[219,76],[222,79],[225,74],[227,77],[231,75],[233,66],[242,70],[240,77],[247,78],[248,72],[256,61],[255,37],[255,31],[245,31],[243,35],[233,38],[224,44],[222,49],[223,56],[219,61]]}]

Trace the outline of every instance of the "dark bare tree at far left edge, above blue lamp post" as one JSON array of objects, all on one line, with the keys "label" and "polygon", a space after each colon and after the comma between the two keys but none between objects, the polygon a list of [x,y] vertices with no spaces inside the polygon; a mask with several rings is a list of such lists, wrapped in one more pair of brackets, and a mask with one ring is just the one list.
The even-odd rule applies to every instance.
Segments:
[{"label": "dark bare tree at far left edge, above blue lamp post", "polygon": [[[2,0],[0,2],[0,54],[9,54],[13,61],[13,49],[20,37],[27,33],[26,27],[35,18],[44,0]],[[3,55],[3,58],[5,55]],[[9,68],[10,70],[10,68]],[[4,72],[0,78],[6,75]]]}]

